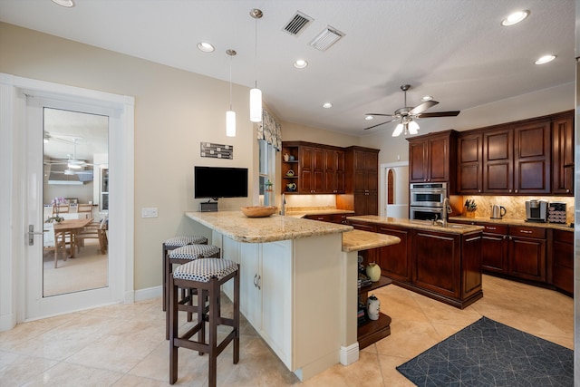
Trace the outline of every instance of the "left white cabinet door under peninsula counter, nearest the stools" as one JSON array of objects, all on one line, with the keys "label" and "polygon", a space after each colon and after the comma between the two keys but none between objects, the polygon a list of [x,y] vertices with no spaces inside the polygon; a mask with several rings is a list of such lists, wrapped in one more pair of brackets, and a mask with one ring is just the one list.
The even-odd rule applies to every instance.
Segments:
[{"label": "left white cabinet door under peninsula counter, nearest the stools", "polygon": [[258,243],[239,244],[240,312],[258,331],[262,328],[262,292],[258,287],[261,287],[262,279],[259,247]]}]

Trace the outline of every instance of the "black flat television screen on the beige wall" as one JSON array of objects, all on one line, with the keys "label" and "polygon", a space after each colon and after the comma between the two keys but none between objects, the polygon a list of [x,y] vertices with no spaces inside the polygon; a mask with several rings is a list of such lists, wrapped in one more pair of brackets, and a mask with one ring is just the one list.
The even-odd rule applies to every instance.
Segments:
[{"label": "black flat television screen on the beige wall", "polygon": [[193,190],[195,198],[247,198],[247,168],[195,166]]}]

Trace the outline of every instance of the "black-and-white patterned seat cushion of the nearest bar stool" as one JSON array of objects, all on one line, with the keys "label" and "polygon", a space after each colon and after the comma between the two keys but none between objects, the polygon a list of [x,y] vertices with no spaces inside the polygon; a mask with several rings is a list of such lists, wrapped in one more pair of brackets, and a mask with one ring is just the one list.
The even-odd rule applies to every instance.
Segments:
[{"label": "black-and-white patterned seat cushion of the nearest bar stool", "polygon": [[196,259],[173,271],[173,278],[209,282],[211,278],[222,279],[237,271],[237,263],[223,258]]}]

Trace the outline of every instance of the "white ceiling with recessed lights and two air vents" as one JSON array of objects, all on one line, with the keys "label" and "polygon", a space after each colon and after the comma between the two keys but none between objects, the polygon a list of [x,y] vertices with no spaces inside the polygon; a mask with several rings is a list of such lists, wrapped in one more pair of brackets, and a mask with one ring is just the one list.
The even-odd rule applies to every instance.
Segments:
[{"label": "white ceiling with recessed lights and two air vents", "polygon": [[[409,105],[429,94],[440,102],[435,112],[575,82],[574,0],[74,1],[63,8],[0,0],[0,21],[225,81],[226,50],[235,49],[233,82],[252,87],[257,78],[281,120],[354,135],[381,122],[364,121],[365,113],[403,106],[403,83],[412,85]],[[257,53],[252,8],[264,12]],[[523,23],[500,25],[519,9],[531,12]],[[296,11],[314,21],[292,36],[283,28]],[[345,36],[319,52],[308,44],[328,25]],[[201,41],[216,51],[199,52]],[[546,53],[556,61],[535,65]],[[298,58],[309,66],[296,70]],[[324,102],[333,108],[323,109]]]}]

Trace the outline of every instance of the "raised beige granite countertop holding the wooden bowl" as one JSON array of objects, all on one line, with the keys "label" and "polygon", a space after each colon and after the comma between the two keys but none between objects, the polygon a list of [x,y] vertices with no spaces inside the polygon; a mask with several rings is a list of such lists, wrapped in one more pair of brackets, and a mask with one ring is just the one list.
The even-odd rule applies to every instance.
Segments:
[{"label": "raised beige granite countertop holding the wooden bowl", "polygon": [[185,215],[238,242],[247,243],[315,237],[353,230],[352,226],[280,215],[247,218],[242,211],[186,212]]}]

